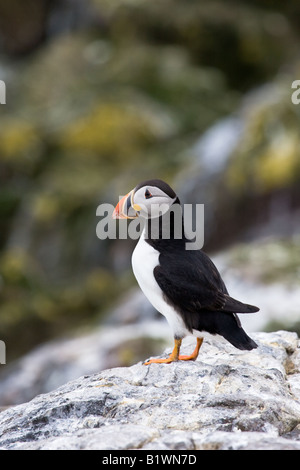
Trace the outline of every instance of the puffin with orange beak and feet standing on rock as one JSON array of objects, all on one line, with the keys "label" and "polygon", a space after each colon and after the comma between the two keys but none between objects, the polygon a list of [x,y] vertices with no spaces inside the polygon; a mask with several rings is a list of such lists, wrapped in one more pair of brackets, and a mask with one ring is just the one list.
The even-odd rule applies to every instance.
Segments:
[{"label": "puffin with orange beak and feet standing on rock", "polygon": [[[150,179],[122,197],[112,214],[114,219],[143,219],[143,230],[132,253],[132,270],[145,296],[168,321],[174,337],[174,348],[167,358],[151,358],[144,364],[195,361],[207,333],[222,336],[241,350],[257,348],[237,314],[258,312],[259,308],[229,295],[218,269],[202,248],[187,249],[184,218],[178,221],[175,209],[182,214],[180,200],[169,184]],[[181,236],[176,224],[182,225]],[[181,355],[186,336],[194,336],[196,346],[191,354]]]}]

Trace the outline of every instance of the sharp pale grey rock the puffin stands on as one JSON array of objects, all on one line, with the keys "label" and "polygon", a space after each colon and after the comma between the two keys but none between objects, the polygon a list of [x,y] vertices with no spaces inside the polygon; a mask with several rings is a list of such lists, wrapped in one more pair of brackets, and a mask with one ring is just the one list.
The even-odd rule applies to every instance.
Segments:
[{"label": "sharp pale grey rock the puffin stands on", "polygon": [[[195,362],[83,376],[0,414],[0,448],[300,450],[299,339],[257,333],[245,352],[212,338]],[[183,352],[193,347],[184,341]]]}]

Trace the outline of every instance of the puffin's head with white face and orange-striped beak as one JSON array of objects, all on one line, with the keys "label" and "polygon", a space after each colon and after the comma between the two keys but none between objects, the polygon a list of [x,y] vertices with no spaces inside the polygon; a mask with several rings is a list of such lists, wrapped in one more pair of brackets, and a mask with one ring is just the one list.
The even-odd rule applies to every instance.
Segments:
[{"label": "puffin's head with white face and orange-striped beak", "polygon": [[141,216],[145,219],[153,219],[165,214],[175,200],[176,194],[163,181],[145,181],[120,200],[113,217],[134,219]]}]

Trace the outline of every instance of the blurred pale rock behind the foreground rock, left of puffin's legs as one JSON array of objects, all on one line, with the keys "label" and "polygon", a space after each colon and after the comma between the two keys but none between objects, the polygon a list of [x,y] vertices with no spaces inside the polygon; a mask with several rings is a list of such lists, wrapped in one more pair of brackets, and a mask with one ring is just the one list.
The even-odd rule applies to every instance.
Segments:
[{"label": "blurred pale rock behind the foreground rock, left of puffin's legs", "polygon": [[18,405],[69,380],[129,366],[171,341],[162,321],[99,327],[85,335],[49,341],[1,367],[0,406]]}]

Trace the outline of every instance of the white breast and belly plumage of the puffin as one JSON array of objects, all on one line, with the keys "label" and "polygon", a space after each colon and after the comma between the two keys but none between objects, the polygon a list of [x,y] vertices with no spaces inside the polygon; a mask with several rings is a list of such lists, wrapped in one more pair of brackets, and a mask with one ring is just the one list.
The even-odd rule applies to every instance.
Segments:
[{"label": "white breast and belly plumage of the puffin", "polygon": [[180,315],[163,298],[163,292],[157,284],[153,269],[159,264],[159,252],[145,240],[145,232],[132,254],[132,269],[136,280],[153,307],[166,317],[173,334],[184,337],[188,333]]}]

